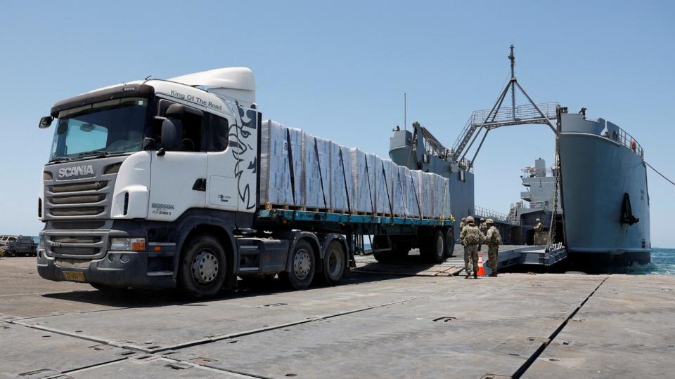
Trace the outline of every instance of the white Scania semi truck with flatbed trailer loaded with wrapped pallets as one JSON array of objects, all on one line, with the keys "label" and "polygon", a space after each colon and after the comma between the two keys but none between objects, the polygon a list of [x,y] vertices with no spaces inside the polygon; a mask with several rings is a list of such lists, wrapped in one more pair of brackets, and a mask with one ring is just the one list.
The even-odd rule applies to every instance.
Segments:
[{"label": "white Scania semi truck with flatbed trailer loaded with wrapped pallets", "polygon": [[40,276],[208,298],[238,277],[337,284],[371,237],[378,260],[451,254],[439,175],[365,154],[353,167],[366,174],[352,175],[358,149],[294,143],[297,131],[262,120],[255,89],[250,69],[230,67],[56,102],[39,123],[56,124],[38,200]]}]

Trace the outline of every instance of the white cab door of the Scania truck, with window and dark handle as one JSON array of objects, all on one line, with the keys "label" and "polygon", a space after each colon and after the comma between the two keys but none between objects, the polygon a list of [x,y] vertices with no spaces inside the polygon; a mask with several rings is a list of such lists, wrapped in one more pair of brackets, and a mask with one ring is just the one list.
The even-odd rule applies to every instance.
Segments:
[{"label": "white cab door of the Scania truck, with window and dark handle", "polygon": [[[158,102],[162,116],[173,104]],[[181,147],[164,155],[152,154],[148,220],[176,220],[189,208],[204,208],[206,202],[207,153],[203,146],[204,112],[186,105]],[[157,138],[155,136],[155,138]]]}]

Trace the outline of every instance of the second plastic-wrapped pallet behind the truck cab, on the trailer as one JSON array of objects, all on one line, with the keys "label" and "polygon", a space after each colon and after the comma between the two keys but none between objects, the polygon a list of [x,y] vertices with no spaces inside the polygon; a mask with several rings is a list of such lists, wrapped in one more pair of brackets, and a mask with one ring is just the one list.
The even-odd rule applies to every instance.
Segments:
[{"label": "second plastic-wrapped pallet behind the truck cab, on the trailer", "polygon": [[304,206],[330,208],[330,141],[304,134]]}]

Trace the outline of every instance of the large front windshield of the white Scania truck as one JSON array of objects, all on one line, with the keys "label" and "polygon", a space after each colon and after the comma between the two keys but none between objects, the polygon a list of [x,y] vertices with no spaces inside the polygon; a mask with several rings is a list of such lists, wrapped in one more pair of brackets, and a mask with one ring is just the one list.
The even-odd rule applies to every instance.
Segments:
[{"label": "large front windshield of the white Scania truck", "polygon": [[59,112],[49,159],[140,151],[147,108],[148,99],[122,98]]}]

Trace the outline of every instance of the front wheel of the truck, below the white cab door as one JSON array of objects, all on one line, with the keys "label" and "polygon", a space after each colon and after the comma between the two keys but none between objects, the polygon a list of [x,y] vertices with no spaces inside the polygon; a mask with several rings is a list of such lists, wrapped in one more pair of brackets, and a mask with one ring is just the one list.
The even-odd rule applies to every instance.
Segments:
[{"label": "front wheel of the truck, below the white cab door", "polygon": [[178,284],[189,298],[217,295],[227,279],[227,257],[218,239],[200,234],[186,242],[181,254]]}]

